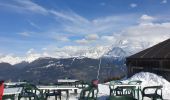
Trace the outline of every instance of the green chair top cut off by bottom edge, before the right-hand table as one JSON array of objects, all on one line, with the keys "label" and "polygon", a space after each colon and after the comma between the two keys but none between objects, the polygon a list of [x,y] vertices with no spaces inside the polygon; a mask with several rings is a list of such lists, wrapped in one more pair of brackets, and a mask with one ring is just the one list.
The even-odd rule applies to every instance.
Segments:
[{"label": "green chair top cut off by bottom edge, before the right-hand table", "polygon": [[131,96],[110,96],[107,100],[137,100]]}]

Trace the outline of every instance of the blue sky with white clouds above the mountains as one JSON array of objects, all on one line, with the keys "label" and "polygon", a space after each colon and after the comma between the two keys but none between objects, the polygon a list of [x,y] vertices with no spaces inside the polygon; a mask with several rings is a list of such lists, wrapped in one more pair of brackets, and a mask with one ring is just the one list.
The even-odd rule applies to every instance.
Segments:
[{"label": "blue sky with white clouds above the mountains", "polygon": [[[114,39],[132,37],[147,41],[149,32],[152,42],[160,41],[169,37],[169,3],[168,0],[0,0],[0,54],[22,56],[30,51],[43,54],[65,47],[110,45]],[[159,30],[153,34],[155,29]]]}]

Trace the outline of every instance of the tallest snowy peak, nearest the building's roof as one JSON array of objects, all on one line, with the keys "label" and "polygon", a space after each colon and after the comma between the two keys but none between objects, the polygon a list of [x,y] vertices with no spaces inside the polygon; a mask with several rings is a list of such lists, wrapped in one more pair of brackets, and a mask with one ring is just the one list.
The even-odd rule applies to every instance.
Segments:
[{"label": "tallest snowy peak, nearest the building's roof", "polygon": [[119,40],[108,48],[107,52],[103,56],[125,58],[150,46],[151,45],[148,42]]}]

